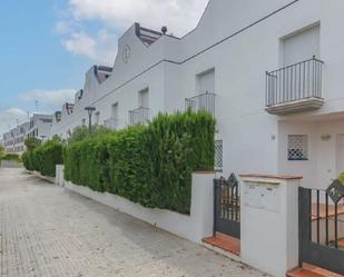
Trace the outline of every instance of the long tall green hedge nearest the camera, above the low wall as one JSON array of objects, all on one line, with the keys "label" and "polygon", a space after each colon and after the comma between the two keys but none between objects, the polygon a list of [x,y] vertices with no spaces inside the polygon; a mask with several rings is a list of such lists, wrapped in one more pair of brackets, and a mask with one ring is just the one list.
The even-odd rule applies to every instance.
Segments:
[{"label": "long tall green hedge nearest the camera, above the low wall", "polygon": [[189,214],[191,172],[214,169],[215,120],[159,115],[148,126],[96,136],[65,149],[65,178],[145,207]]}]

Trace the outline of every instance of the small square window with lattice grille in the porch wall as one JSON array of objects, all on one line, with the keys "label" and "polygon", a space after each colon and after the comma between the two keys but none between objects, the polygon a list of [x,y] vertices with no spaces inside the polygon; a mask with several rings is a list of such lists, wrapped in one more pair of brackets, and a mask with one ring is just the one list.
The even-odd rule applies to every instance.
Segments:
[{"label": "small square window with lattice grille in the porch wall", "polygon": [[288,136],[288,160],[308,159],[308,137],[306,135]]}]

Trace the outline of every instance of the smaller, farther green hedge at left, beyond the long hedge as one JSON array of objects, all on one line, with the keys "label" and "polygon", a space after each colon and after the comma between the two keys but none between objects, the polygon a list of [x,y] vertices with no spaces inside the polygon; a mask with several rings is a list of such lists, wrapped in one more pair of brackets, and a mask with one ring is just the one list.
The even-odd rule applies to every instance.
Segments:
[{"label": "smaller, farther green hedge at left, beyond the long hedge", "polygon": [[24,167],[43,176],[55,177],[56,165],[63,164],[63,145],[58,138],[46,141],[22,155]]}]

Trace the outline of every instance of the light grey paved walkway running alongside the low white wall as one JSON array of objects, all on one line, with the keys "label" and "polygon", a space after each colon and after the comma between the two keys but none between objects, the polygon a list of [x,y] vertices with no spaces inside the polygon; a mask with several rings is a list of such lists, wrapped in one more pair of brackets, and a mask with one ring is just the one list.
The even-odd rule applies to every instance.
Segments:
[{"label": "light grey paved walkway running alongside the low white wall", "polygon": [[22,169],[0,169],[1,277],[248,277],[246,266]]}]

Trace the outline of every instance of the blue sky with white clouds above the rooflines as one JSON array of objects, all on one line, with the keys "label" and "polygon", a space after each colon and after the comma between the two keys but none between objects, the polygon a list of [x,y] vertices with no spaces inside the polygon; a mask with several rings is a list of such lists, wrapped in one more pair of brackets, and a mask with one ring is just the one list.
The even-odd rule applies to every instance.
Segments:
[{"label": "blue sky with white clouds above the rooflines", "polygon": [[134,23],[183,36],[208,0],[11,0],[0,8],[0,136],[33,112],[52,113],[92,65],[112,66]]}]

